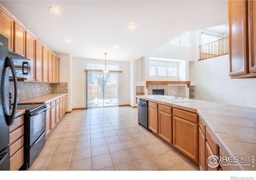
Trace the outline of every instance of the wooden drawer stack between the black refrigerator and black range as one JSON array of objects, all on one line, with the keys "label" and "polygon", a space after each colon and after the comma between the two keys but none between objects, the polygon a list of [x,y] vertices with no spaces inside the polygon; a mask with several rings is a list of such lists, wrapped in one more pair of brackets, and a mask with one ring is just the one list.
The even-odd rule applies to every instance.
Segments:
[{"label": "wooden drawer stack between the black refrigerator and black range", "polygon": [[19,170],[24,162],[24,118],[23,114],[14,119],[10,126],[10,170]]}]

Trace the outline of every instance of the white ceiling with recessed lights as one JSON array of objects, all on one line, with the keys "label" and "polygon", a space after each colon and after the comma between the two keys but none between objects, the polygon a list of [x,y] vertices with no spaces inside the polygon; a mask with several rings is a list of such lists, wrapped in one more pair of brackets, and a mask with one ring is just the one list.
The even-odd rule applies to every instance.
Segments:
[{"label": "white ceiling with recessed lights", "polygon": [[78,58],[105,59],[106,52],[107,60],[135,60],[190,30],[228,23],[226,0],[0,2],[51,50]]}]

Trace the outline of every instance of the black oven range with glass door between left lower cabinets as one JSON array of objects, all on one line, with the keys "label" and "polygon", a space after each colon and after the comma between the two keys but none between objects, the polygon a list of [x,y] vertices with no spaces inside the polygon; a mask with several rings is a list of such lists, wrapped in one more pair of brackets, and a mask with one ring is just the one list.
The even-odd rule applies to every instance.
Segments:
[{"label": "black oven range with glass door between left lower cabinets", "polygon": [[30,168],[46,141],[45,103],[19,104],[17,109],[25,109],[24,114],[24,164],[20,170]]}]

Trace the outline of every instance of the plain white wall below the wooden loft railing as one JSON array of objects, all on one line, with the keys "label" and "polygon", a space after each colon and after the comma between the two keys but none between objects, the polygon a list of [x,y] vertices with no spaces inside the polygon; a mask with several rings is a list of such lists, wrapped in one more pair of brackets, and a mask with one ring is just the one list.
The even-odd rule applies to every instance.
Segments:
[{"label": "plain white wall below the wooden loft railing", "polygon": [[190,62],[195,99],[256,108],[256,79],[231,79],[229,72],[228,55]]}]

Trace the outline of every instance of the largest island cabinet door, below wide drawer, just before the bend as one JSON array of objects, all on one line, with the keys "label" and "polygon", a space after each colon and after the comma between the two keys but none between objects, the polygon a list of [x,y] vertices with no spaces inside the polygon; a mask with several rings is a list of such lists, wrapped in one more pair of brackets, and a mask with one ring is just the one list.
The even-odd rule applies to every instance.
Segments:
[{"label": "largest island cabinet door, below wide drawer, just before the bend", "polygon": [[174,116],[173,136],[175,148],[198,163],[198,125]]}]

